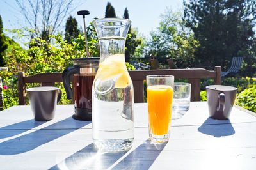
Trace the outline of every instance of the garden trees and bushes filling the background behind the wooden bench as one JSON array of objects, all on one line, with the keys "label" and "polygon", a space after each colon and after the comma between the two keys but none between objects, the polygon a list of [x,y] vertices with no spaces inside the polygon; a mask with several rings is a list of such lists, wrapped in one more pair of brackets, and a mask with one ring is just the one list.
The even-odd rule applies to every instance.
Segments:
[{"label": "garden trees and bushes filling the background behind the wooden bench", "polygon": [[[4,109],[18,105],[19,71],[26,75],[63,72],[72,66],[72,58],[87,57],[83,28],[77,26],[74,17],[69,16],[65,21],[64,33],[56,29],[72,10],[67,8],[72,0],[16,2],[28,26],[4,29],[0,16],[0,66],[8,67],[8,72],[1,72]],[[150,58],[156,58],[161,69],[168,68],[166,59],[172,59],[178,68],[211,69],[219,65],[225,71],[234,56],[242,56],[239,72],[223,77],[222,84],[236,86],[236,104],[256,112],[256,79],[253,78],[256,75],[255,7],[255,0],[189,0],[184,1],[182,10],[166,8],[159,26],[150,32],[150,36],[141,36],[139,30],[132,26],[129,29],[125,44],[127,68],[134,69],[129,61],[149,64]],[[125,8],[123,16],[116,16],[114,6],[107,3],[105,17],[129,19],[129,11]],[[90,55],[98,57],[99,44],[92,22],[86,27],[86,32]],[[17,41],[21,39],[26,42]],[[205,86],[211,84],[213,80],[201,79],[202,100],[206,100]],[[65,97],[62,83],[58,87],[63,92],[60,104],[71,104]]]}]

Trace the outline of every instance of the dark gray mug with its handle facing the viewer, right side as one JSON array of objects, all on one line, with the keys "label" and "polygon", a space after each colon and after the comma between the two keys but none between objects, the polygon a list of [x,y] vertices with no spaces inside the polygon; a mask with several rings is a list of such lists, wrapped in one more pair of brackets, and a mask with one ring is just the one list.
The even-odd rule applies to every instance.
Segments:
[{"label": "dark gray mug with its handle facing the viewer, right side", "polygon": [[227,120],[236,99],[237,88],[232,86],[206,86],[207,103],[211,118]]}]

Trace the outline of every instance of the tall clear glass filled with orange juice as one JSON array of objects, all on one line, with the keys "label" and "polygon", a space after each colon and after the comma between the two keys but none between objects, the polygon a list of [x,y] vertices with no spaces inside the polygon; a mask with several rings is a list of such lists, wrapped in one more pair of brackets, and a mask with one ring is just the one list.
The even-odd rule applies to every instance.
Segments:
[{"label": "tall clear glass filled with orange juice", "polygon": [[147,75],[149,137],[157,143],[169,141],[173,82],[173,75]]}]

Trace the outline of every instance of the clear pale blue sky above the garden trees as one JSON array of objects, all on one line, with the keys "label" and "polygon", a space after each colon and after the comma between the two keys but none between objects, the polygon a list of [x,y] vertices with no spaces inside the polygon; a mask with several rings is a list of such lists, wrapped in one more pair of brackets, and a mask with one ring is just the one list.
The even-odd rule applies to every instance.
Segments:
[{"label": "clear pale blue sky above the garden trees", "polygon": [[[77,2],[79,6],[69,13],[68,16],[76,17],[79,27],[83,27],[83,17],[77,15],[77,11],[90,11],[90,15],[86,15],[86,26],[88,26],[93,18],[104,18],[106,5],[110,2],[115,8],[117,17],[120,18],[123,17],[125,7],[127,7],[129,18],[132,21],[132,28],[138,29],[139,34],[144,36],[148,36],[152,29],[159,26],[160,15],[164,13],[166,8],[178,11],[183,6],[182,0],[77,0]],[[0,0],[0,15],[4,29],[17,29],[26,26],[25,19],[20,13],[15,0]],[[65,23],[63,23],[62,27],[62,31],[64,31]]]}]

